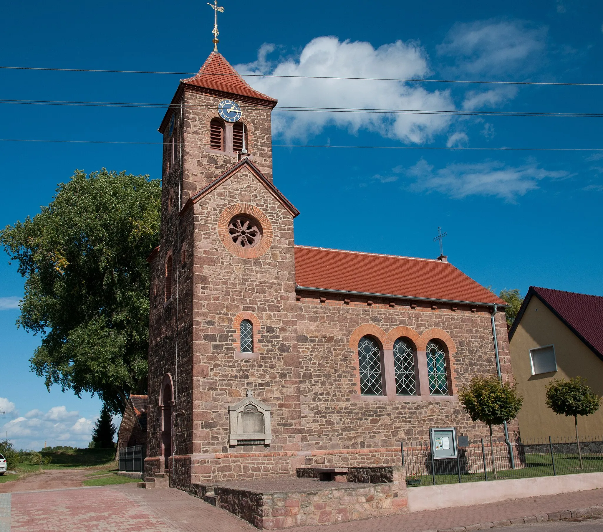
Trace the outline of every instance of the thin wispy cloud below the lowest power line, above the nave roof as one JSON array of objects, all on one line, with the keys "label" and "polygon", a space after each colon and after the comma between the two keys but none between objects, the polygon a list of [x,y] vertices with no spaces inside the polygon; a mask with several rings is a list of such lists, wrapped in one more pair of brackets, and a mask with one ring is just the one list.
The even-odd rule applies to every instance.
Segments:
[{"label": "thin wispy cloud below the lowest power line, above the nave roof", "polygon": [[420,159],[406,170],[406,176],[414,180],[411,184],[414,191],[437,191],[456,199],[469,195],[495,196],[511,202],[538,188],[542,179],[569,175],[563,170],[538,168],[536,163],[509,166],[500,161],[452,163],[436,170],[425,159]]}]

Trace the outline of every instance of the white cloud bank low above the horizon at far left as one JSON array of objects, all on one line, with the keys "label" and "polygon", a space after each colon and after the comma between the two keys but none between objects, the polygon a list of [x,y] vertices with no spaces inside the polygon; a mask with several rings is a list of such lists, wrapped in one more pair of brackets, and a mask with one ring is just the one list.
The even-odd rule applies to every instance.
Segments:
[{"label": "white cloud bank low above the horizon at far left", "polygon": [[[8,413],[4,404],[11,405],[11,412],[16,414],[14,404],[0,398],[0,407],[7,408]],[[34,409],[4,423],[0,432],[6,434],[17,449],[39,450],[45,442],[50,446],[87,447],[95,419],[82,417],[78,411],[68,411],[64,406],[52,407],[46,413]]]}]

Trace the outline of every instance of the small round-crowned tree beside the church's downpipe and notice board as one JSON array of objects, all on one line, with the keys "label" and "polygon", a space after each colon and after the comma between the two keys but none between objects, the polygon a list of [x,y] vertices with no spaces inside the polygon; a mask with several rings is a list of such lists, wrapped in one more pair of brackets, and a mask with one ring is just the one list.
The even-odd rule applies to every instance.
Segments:
[{"label": "small round-crowned tree beside the church's downpipe and notice board", "polygon": [[496,478],[492,425],[502,425],[517,417],[522,408],[522,396],[517,393],[516,385],[503,384],[496,375],[489,375],[471,379],[469,386],[461,388],[458,398],[473,421],[481,421],[490,428],[490,456]]}]

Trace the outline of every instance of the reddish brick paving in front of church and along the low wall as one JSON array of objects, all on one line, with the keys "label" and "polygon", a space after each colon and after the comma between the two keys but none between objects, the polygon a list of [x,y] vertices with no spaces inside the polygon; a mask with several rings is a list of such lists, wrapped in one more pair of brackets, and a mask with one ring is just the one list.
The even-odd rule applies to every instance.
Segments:
[{"label": "reddish brick paving in front of church and along the low wall", "polygon": [[[289,530],[420,532],[505,521],[596,505],[603,505],[603,490],[421,511],[407,515],[325,525],[320,529],[298,527]],[[214,508],[180,490],[142,490],[137,488],[136,484],[13,492],[11,507],[12,531],[249,532],[256,530],[230,513]],[[576,532],[603,530],[603,521],[589,522],[595,528],[584,525],[575,528]],[[550,528],[551,531],[565,530],[558,525],[553,526]],[[596,526],[599,526],[599,529]],[[540,525],[534,525],[529,529],[534,532],[549,530]],[[519,532],[528,528],[521,527],[517,530]]]}]

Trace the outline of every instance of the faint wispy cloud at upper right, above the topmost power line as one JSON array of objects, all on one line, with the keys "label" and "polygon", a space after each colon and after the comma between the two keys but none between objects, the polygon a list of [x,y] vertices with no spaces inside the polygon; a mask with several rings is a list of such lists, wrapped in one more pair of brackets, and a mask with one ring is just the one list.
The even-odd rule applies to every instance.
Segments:
[{"label": "faint wispy cloud at upper right, above the topmost power line", "polygon": [[539,65],[546,34],[522,21],[457,22],[437,51],[452,57],[458,73],[517,76]]}]

